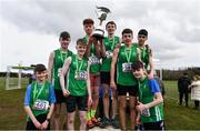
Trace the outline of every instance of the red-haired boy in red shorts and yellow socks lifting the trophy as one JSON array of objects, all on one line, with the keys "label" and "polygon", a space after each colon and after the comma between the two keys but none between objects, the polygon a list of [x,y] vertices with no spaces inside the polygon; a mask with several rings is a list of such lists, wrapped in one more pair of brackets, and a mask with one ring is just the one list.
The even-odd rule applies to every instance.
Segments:
[{"label": "red-haired boy in red shorts and yellow socks lifting the trophy", "polygon": [[[86,32],[84,40],[87,41],[87,52],[86,57],[89,58],[90,61],[90,85],[91,85],[91,95],[92,95],[92,105],[89,108],[87,113],[88,128],[92,128],[93,125],[98,125],[99,121],[96,118],[97,107],[99,103],[99,84],[100,84],[100,46],[94,37],[92,37],[92,32],[94,29],[94,22],[92,19],[84,19],[83,29]],[[102,40],[101,40],[102,43]],[[101,44],[102,46],[102,44]]]}]

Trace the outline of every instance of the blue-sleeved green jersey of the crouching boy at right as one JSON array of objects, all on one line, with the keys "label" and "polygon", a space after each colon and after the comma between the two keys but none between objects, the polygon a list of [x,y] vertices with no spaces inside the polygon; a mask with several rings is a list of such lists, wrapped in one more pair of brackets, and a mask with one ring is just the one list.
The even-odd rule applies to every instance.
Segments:
[{"label": "blue-sleeved green jersey of the crouching boy at right", "polygon": [[[139,101],[143,104],[150,103],[154,100],[154,93],[160,92],[159,84],[154,79],[147,77],[139,83]],[[141,122],[157,122],[163,120],[163,103],[160,103],[150,109],[144,109],[141,114]]]}]

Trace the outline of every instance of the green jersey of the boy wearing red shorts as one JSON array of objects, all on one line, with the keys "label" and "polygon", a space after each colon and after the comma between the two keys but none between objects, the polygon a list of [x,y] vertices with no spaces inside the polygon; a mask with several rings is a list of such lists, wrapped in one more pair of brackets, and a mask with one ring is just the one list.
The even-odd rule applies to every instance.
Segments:
[{"label": "green jersey of the boy wearing red shorts", "polygon": [[[88,36],[86,36],[83,39],[87,41],[87,43],[89,42]],[[93,43],[91,46],[89,61],[90,61],[90,74],[99,74],[101,64],[100,64],[100,59],[96,56],[96,48]]]}]

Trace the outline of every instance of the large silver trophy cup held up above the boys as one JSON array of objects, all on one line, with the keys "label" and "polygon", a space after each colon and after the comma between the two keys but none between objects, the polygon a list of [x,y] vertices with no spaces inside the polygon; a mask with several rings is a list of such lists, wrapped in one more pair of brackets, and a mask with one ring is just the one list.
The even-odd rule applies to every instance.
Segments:
[{"label": "large silver trophy cup held up above the boys", "polygon": [[97,16],[98,19],[100,20],[99,26],[96,28],[93,31],[93,37],[98,40],[103,39],[104,37],[104,30],[102,28],[102,21],[107,19],[107,14],[110,13],[110,10],[104,7],[97,7]]}]

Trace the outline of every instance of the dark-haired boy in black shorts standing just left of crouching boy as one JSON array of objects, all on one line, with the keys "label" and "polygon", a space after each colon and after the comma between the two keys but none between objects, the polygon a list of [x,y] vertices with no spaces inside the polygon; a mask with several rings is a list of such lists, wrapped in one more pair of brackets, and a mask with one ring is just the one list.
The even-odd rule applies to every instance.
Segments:
[{"label": "dark-haired boy in black shorts standing just left of crouching boy", "polygon": [[[130,108],[130,123],[131,130],[136,125],[136,95],[137,95],[137,80],[132,77],[132,62],[141,60],[140,50],[132,44],[133,32],[131,29],[122,31],[123,46],[117,47],[113,51],[111,72],[110,72],[110,88],[118,90],[119,95],[119,114],[121,129],[127,130],[126,109],[127,109],[127,93],[129,94]],[[114,82],[114,72],[117,64],[117,84]],[[118,88],[117,88],[118,85]]]}]

